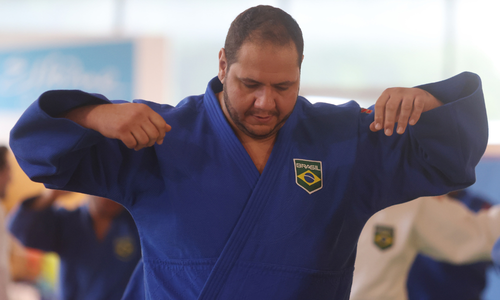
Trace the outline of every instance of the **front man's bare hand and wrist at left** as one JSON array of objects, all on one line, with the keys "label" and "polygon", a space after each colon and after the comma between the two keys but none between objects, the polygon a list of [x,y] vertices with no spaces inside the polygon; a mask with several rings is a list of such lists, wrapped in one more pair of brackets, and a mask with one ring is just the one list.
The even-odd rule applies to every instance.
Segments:
[{"label": "front man's bare hand and wrist at left", "polygon": [[106,137],[117,138],[135,150],[163,143],[165,132],[171,129],[163,117],[142,103],[82,106],[64,117]]}]

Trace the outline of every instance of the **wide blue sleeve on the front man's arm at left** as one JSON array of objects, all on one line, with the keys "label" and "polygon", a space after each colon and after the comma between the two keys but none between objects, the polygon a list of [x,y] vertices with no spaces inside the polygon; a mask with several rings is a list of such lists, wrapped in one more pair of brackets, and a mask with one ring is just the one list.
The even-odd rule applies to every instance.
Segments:
[{"label": "wide blue sleeve on the front man's arm at left", "polygon": [[50,90],[24,111],[10,131],[9,143],[31,180],[43,182],[48,188],[93,194],[126,204],[129,187],[134,185],[134,170],[141,163],[149,163],[141,161],[141,157],[151,149],[134,153],[120,140],[58,117],[72,108],[104,103],[111,101],[99,94]]}]

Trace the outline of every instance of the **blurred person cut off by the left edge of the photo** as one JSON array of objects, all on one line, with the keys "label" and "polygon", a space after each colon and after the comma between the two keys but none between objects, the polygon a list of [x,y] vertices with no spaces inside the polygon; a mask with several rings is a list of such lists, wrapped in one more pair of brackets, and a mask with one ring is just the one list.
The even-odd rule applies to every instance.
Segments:
[{"label": "blurred person cut off by the left edge of the photo", "polygon": [[[0,200],[5,197],[7,183],[10,181],[10,166],[7,160],[8,150],[0,146]],[[7,283],[10,279],[9,273],[9,242],[8,233],[5,230],[5,212],[0,204],[0,300],[7,299]]]}]

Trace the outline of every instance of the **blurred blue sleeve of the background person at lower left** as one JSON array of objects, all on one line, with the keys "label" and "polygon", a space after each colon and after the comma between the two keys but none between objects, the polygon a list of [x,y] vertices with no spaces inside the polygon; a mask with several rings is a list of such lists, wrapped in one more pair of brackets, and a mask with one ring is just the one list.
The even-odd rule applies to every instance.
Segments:
[{"label": "blurred blue sleeve of the background person at lower left", "polygon": [[11,214],[8,229],[26,247],[60,253],[63,212],[53,206],[31,209],[29,206],[33,200],[24,200]]}]

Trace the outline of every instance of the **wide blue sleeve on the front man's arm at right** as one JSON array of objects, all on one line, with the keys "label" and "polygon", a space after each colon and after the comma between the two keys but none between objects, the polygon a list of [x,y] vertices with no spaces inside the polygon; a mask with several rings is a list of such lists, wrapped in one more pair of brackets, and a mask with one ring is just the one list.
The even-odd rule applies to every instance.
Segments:
[{"label": "wide blue sleeve on the front man's arm at right", "polygon": [[442,195],[475,181],[486,149],[488,123],[481,81],[463,72],[417,86],[443,105],[423,112],[403,134],[371,132],[374,113],[359,113],[352,184],[370,213],[420,196]]}]

